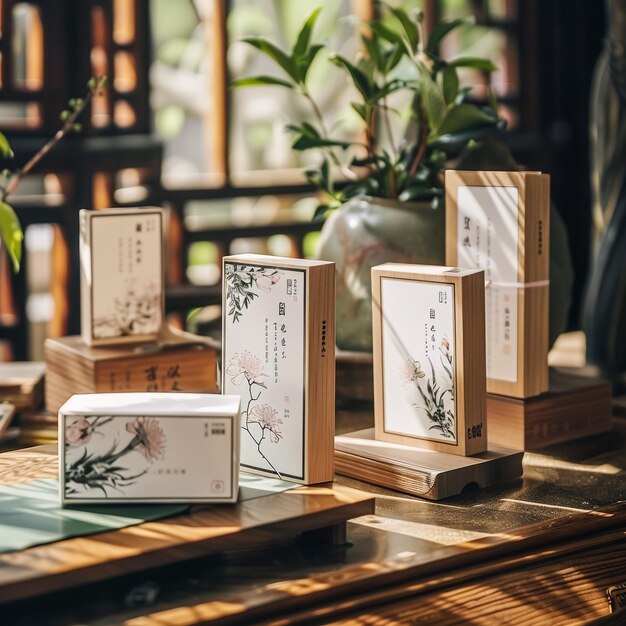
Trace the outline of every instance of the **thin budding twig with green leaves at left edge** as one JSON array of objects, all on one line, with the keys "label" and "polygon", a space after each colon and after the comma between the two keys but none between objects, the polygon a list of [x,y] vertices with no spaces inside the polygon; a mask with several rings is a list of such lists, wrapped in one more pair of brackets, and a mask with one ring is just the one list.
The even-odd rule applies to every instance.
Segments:
[{"label": "thin budding twig with green leaves at left edge", "polygon": [[[94,95],[99,94],[106,85],[106,76],[93,77],[87,83],[87,93],[84,98],[72,98],[68,108],[61,113],[62,126],[54,136],[17,170],[4,169],[0,174],[0,237],[6,246],[9,258],[13,263],[13,270],[18,272],[22,260],[22,240],[24,233],[20,221],[7,198],[17,189],[20,181],[43,159],[54,146],[68,133],[78,132],[81,126],[78,118],[85,110]],[[8,139],[0,133],[0,159],[13,158],[13,150]]]}]

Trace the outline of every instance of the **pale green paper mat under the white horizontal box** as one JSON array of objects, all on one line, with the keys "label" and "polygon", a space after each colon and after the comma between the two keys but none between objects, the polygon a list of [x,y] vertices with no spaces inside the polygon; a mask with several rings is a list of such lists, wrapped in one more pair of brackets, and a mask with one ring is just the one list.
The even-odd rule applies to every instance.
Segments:
[{"label": "pale green paper mat under the white horizontal box", "polygon": [[[297,486],[274,478],[241,473],[239,502]],[[134,526],[184,513],[189,508],[187,504],[91,504],[64,509],[59,504],[59,483],[56,479],[0,485],[0,553]]]}]

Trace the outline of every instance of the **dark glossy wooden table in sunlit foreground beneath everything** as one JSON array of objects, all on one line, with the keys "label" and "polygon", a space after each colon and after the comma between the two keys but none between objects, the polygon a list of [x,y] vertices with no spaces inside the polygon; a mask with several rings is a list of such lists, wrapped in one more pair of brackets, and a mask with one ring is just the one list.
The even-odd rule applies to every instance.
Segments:
[{"label": "dark glossy wooden table in sunlit foreground beneath everything", "polygon": [[[348,523],[343,545],[270,533],[254,545],[229,545],[225,536],[216,553],[207,550],[213,539],[196,534],[211,529],[176,520],[70,540],[78,542],[75,558],[85,558],[83,542],[99,548],[98,575],[65,575],[55,587],[69,585],[65,591],[40,596],[36,590],[37,603],[0,606],[0,623],[185,626],[306,619],[525,626],[609,620],[606,590],[626,582],[625,468],[626,421],[619,420],[610,437],[527,454],[523,481],[443,502],[339,479],[341,486],[331,492],[358,499],[343,489],[365,490],[377,502],[374,513],[357,513]],[[325,489],[320,496],[332,497]],[[251,507],[250,519],[275,514],[261,502],[243,503]],[[163,541],[166,559],[159,558]],[[132,564],[132,551],[143,545],[154,548],[149,558],[135,558],[143,566],[127,569],[124,560]],[[33,550],[46,571],[63,569],[54,561],[54,546]],[[0,576],[25,553],[13,557],[18,563],[5,555]],[[98,576],[106,582],[90,582]],[[614,623],[626,623],[625,615],[616,614]]]}]

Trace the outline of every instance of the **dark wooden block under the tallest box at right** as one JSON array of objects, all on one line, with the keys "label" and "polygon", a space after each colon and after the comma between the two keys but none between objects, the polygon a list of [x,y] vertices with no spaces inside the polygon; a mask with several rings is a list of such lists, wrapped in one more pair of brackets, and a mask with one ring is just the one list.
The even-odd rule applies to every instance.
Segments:
[{"label": "dark wooden block under the tallest box at right", "polygon": [[487,394],[490,446],[538,450],[609,432],[611,384],[550,370],[550,389],[524,400]]}]

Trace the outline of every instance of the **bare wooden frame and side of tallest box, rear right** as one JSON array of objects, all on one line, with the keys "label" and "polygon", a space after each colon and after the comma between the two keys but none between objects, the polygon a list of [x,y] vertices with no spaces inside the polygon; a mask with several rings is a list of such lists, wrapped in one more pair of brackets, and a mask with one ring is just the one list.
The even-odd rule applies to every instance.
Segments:
[{"label": "bare wooden frame and side of tallest box, rear right", "polygon": [[[459,263],[459,187],[518,190],[517,380],[487,378],[493,394],[528,398],[548,390],[548,301],[550,264],[550,177],[540,172],[448,170],[446,178],[446,263]],[[489,312],[487,312],[489,323]],[[489,336],[487,334],[487,341]]]}]

